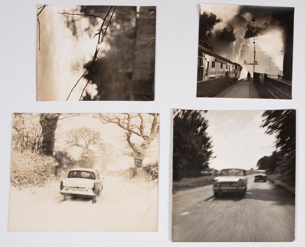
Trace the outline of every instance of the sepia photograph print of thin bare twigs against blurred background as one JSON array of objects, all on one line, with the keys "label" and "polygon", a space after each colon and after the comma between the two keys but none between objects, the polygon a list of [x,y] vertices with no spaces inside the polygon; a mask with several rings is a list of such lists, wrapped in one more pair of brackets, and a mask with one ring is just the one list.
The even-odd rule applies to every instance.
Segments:
[{"label": "sepia photograph print of thin bare twigs against blurred background", "polygon": [[153,101],[155,6],[37,5],[37,101]]}]

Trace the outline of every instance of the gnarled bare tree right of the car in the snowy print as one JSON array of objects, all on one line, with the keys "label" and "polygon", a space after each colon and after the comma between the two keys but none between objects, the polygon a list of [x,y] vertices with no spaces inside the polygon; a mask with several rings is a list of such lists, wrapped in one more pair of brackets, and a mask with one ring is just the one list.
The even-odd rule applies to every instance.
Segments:
[{"label": "gnarled bare tree right of the car in the snowy print", "polygon": [[[131,148],[131,156],[134,158],[135,167],[141,168],[146,152],[150,143],[159,134],[159,114],[148,113],[148,120],[142,113],[122,113],[122,114],[97,114],[94,118],[99,118],[102,123],[114,123],[122,128],[125,132],[126,141]],[[148,125],[149,126],[146,126]],[[131,136],[139,136],[143,141],[138,144],[134,143]]]}]

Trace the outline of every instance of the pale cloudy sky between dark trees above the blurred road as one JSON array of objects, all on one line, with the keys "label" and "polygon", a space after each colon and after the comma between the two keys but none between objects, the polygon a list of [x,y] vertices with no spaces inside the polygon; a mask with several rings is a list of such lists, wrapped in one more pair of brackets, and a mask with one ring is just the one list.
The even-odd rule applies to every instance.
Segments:
[{"label": "pale cloudy sky between dark trees above the blurred road", "polygon": [[257,161],[275,150],[274,136],[260,128],[264,111],[208,111],[207,131],[212,136],[214,155],[210,168],[256,168]]}]

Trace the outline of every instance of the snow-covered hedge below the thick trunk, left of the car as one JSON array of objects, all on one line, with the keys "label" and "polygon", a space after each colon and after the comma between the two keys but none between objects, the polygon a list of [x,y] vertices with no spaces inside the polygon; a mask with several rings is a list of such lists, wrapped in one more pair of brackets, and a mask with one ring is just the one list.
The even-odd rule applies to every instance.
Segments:
[{"label": "snow-covered hedge below the thick trunk, left of the car", "polygon": [[43,186],[55,180],[58,162],[53,157],[24,151],[12,151],[11,184],[22,187]]}]

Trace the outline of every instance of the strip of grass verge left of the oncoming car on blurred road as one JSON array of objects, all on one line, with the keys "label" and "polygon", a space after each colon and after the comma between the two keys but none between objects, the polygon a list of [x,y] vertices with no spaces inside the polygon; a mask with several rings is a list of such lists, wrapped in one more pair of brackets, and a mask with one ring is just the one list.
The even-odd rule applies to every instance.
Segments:
[{"label": "strip of grass verge left of the oncoming car on blurred road", "polygon": [[182,178],[179,181],[173,181],[173,192],[212,184],[214,178],[215,176],[204,176],[197,178]]}]

